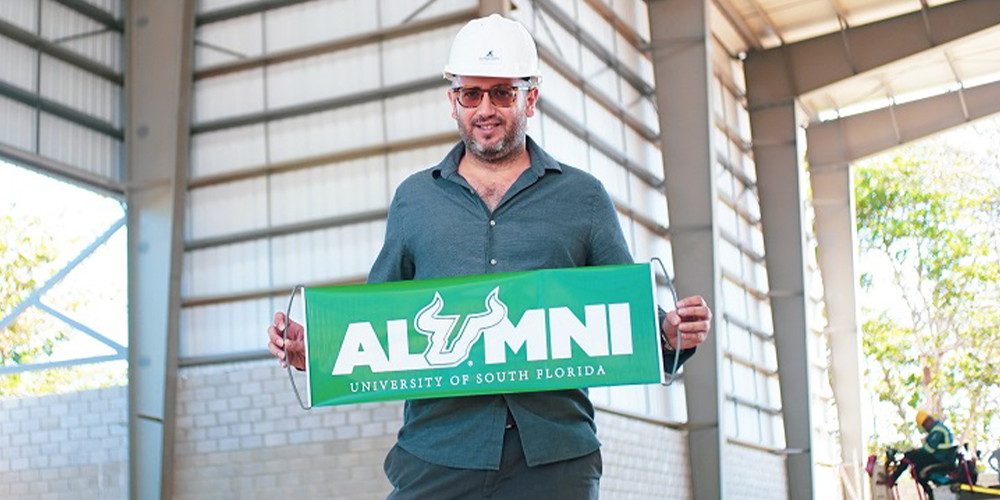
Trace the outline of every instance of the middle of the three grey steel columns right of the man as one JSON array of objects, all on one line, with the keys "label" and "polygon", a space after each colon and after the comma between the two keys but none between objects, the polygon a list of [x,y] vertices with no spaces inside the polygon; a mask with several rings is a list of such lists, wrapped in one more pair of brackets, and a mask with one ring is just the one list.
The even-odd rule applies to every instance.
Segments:
[{"label": "middle of the three grey steel columns right of the man", "polygon": [[[749,82],[748,82],[749,85]],[[809,300],[803,169],[794,101],[764,108],[751,102],[764,258],[771,286],[778,382],[785,424],[789,498],[814,498],[809,376]]]}]

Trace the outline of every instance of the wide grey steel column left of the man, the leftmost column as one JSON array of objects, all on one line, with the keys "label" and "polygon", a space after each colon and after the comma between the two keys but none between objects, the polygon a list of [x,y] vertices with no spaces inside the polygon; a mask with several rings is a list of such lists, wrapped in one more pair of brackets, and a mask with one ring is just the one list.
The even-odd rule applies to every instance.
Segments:
[{"label": "wide grey steel column left of the man, the leftmost column", "polygon": [[131,0],[126,37],[129,498],[172,497],[194,0]]}]

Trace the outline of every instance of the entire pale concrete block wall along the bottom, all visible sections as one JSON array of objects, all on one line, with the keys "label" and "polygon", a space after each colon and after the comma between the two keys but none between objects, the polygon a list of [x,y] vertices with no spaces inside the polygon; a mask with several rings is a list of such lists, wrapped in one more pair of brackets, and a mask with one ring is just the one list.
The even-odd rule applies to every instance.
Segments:
[{"label": "entire pale concrete block wall along the bottom, all visible sections", "polygon": [[[0,499],[125,500],[127,388],[0,400]],[[272,361],[180,370],[175,500],[370,500],[402,404],[298,407]],[[652,422],[598,411],[603,500],[691,498],[687,439]],[[727,447],[741,499],[787,498],[784,459]]]}]

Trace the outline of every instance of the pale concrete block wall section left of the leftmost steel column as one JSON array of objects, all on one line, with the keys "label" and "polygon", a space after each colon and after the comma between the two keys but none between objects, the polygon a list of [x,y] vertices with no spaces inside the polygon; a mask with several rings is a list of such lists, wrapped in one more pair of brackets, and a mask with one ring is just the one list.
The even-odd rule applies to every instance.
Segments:
[{"label": "pale concrete block wall section left of the leftmost steel column", "polygon": [[121,500],[125,387],[0,400],[0,499]]}]

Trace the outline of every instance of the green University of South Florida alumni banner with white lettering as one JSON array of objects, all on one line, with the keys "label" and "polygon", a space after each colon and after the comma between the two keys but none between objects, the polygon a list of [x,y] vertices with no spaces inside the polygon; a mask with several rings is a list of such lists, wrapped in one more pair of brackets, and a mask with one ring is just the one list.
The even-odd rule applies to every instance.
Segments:
[{"label": "green University of South Florida alumni banner with white lettering", "polygon": [[662,382],[649,264],[307,288],[307,406]]}]

